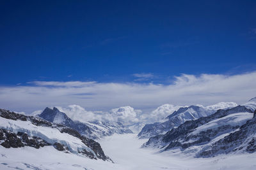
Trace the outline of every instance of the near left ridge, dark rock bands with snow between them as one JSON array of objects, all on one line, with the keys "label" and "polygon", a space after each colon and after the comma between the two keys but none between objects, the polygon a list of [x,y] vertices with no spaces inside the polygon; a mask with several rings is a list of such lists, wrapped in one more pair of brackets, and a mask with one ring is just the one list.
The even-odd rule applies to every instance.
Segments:
[{"label": "near left ridge, dark rock bands with snow between them", "polygon": [[0,143],[4,148],[52,146],[52,150],[111,161],[99,143],[65,125],[8,110],[0,110],[0,122]]}]

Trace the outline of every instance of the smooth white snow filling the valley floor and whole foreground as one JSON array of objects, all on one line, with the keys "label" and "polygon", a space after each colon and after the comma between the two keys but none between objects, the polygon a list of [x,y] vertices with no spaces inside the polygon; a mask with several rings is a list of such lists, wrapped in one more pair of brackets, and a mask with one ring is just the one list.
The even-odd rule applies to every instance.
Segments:
[{"label": "smooth white snow filling the valley floor and whole foreground", "polygon": [[255,169],[256,153],[222,155],[195,159],[186,155],[140,148],[145,139],[136,134],[115,134],[100,140],[106,155],[115,162],[104,162],[59,152],[52,146],[35,149],[0,146],[0,169]]}]

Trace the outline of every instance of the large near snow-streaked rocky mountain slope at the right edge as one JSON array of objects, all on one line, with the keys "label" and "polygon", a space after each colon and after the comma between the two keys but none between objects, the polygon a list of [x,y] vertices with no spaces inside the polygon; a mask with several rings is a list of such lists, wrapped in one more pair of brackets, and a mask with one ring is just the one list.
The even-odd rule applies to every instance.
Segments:
[{"label": "large near snow-streaked rocky mountain slope at the right edge", "polygon": [[221,153],[255,152],[255,114],[245,106],[236,106],[197,120],[190,120],[166,134],[148,139],[143,147],[161,152],[193,153],[196,157],[213,157]]}]

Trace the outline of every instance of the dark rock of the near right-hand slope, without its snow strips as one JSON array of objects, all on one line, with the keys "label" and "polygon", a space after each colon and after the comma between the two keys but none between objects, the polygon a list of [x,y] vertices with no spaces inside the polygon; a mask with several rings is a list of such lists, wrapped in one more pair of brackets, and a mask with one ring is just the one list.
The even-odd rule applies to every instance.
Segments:
[{"label": "dark rock of the near right-hand slope, without its snow strips", "polygon": [[[228,132],[232,132],[236,129],[239,129],[240,125],[220,125],[218,127],[212,127],[212,129],[202,129],[202,131],[193,134],[193,131],[200,127],[201,125],[205,125],[208,122],[211,122],[212,120],[216,120],[218,118],[226,117],[227,115],[230,115],[232,113],[252,113],[251,110],[248,110],[244,106],[237,106],[235,108],[231,108],[228,110],[218,110],[213,115],[210,115],[209,117],[202,117],[198,118],[198,120],[190,120],[185,122],[184,124],[180,125],[176,129],[172,129],[171,131],[166,132],[166,134],[157,135],[152,138],[150,138],[147,143],[145,143],[143,146],[154,146],[158,148],[164,148],[165,150],[170,150],[172,148],[180,148],[180,150],[185,150],[186,148],[189,148],[190,146],[198,146],[198,145],[204,145],[205,143],[209,143],[211,139],[216,138],[217,136],[220,136],[221,134],[227,134]],[[254,119],[253,119],[254,120]],[[251,122],[251,124],[253,124]],[[234,132],[230,134],[230,137],[225,137],[223,141],[218,142],[216,145],[212,145],[212,149],[204,149],[204,151],[200,152],[197,156],[214,156],[214,154],[217,154],[218,152],[223,152],[223,150],[228,150],[230,147],[235,147],[235,144],[237,139],[246,139],[246,132],[250,131],[250,128],[244,129],[245,125],[241,126],[241,130],[238,132]],[[255,128],[256,130],[256,128]],[[242,140],[243,141],[243,140]],[[221,145],[223,148],[221,148]],[[230,146],[228,146],[230,145]],[[237,143],[237,146],[241,145],[241,142]],[[220,146],[220,147],[219,147]],[[254,141],[251,141],[250,147],[248,150],[252,152],[254,147]],[[220,151],[222,150],[222,151]]]}]

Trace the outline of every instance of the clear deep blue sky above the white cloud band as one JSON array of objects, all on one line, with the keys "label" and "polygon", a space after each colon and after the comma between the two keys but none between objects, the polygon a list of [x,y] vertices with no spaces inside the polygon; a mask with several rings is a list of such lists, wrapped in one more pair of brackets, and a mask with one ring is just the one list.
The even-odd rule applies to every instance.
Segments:
[{"label": "clear deep blue sky above the white cloud band", "polygon": [[1,1],[0,59],[1,85],[254,71],[256,1]]}]

